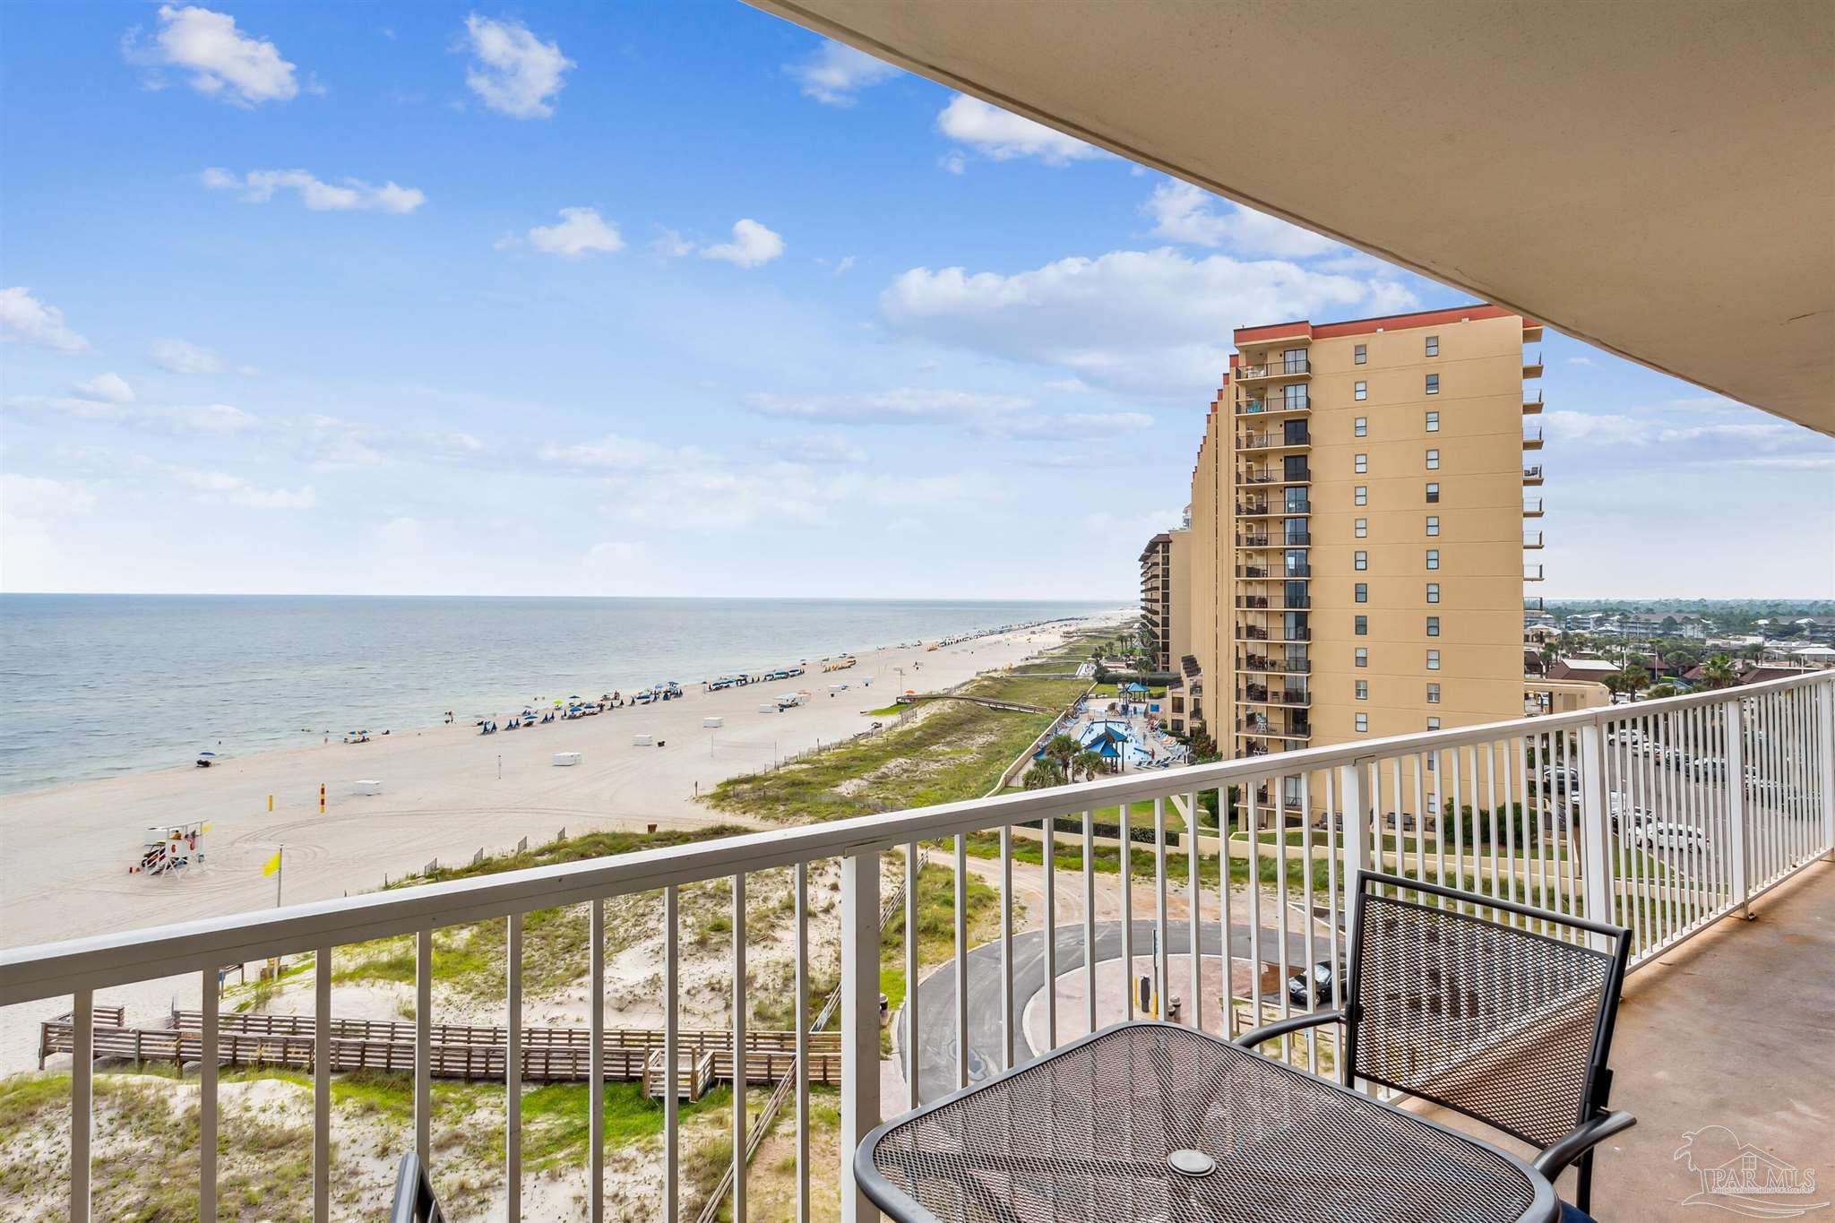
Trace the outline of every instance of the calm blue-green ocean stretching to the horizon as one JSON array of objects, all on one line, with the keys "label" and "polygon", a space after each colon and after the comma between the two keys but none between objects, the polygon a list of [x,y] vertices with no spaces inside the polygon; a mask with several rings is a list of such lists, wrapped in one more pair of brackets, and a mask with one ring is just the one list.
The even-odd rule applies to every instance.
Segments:
[{"label": "calm blue-green ocean stretching to the horizon", "polygon": [[1118,607],[0,594],[0,794]]}]

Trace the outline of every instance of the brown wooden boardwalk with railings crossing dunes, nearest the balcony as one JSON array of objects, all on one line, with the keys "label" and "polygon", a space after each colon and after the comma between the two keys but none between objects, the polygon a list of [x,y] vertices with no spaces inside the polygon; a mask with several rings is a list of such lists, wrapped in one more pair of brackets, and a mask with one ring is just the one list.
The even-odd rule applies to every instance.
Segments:
[{"label": "brown wooden boardwalk with railings crossing dunes, nearest the balcony", "polygon": [[[312,1069],[317,1054],[314,1016],[226,1014],[218,1018],[217,1056],[222,1065],[277,1065]],[[204,1018],[196,1010],[172,1012],[169,1027],[123,1027],[119,1007],[95,1008],[95,1058],[119,1062],[200,1062]],[[413,1073],[415,1025],[391,1019],[332,1019],[332,1071]],[[714,1078],[732,1078],[732,1032],[681,1029],[675,1034],[684,1056],[712,1060]],[[39,1025],[39,1069],[46,1058],[73,1049],[70,1016]],[[644,1082],[650,1054],[662,1052],[662,1029],[606,1029],[604,1076]],[[506,1030],[466,1023],[431,1025],[429,1071],[437,1078],[503,1078]],[[584,1082],[591,1067],[591,1032],[584,1027],[525,1027],[525,1082]],[[796,1063],[795,1032],[747,1032],[745,1080],[774,1084]],[[809,1080],[840,1084],[840,1034],[809,1034]]]}]

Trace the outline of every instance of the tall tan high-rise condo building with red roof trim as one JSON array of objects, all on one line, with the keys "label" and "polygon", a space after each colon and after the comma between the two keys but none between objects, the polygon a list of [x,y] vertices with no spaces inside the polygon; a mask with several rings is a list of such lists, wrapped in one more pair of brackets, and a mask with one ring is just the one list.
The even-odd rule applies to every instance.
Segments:
[{"label": "tall tan high-rise condo building with red roof trim", "polygon": [[1226,755],[1521,717],[1540,339],[1496,306],[1235,332],[1185,603]]}]

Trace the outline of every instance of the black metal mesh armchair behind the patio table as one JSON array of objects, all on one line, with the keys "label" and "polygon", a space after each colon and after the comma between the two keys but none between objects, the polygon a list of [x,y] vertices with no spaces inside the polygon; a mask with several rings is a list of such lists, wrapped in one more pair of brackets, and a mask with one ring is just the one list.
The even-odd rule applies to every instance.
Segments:
[{"label": "black metal mesh armchair behind the patio table", "polygon": [[1574,1205],[1585,1212],[1593,1148],[1637,1120],[1606,1107],[1629,952],[1620,926],[1363,871],[1345,1008],[1268,1023],[1237,1043],[1343,1023],[1347,1087],[1395,1087],[1521,1139],[1551,1181],[1578,1162]]}]

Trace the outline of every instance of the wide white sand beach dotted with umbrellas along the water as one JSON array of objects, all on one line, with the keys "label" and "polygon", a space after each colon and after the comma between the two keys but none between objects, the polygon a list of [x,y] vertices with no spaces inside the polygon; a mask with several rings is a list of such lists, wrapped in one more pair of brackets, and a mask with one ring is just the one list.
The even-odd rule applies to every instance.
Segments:
[{"label": "wide white sand beach dotted with umbrellas along the water", "polygon": [[[1050,649],[1062,636],[1062,627],[1050,627],[936,651],[892,647],[862,653],[855,667],[833,675],[811,660],[815,666],[793,680],[717,693],[684,682],[677,700],[517,732],[479,735],[475,726],[437,724],[361,744],[261,752],[213,768],[187,761],[4,796],[0,946],[272,908],[275,880],[261,867],[277,845],[286,847],[283,900],[297,904],[373,891],[433,858],[459,864],[479,849],[499,853],[523,836],[541,842],[562,829],[743,823],[695,803],[697,790],[866,730],[873,719],[864,711],[890,706],[905,688],[947,688]],[[798,660],[784,660],[791,662]],[[829,695],[829,686],[842,682],[848,688]],[[796,689],[811,693],[802,708],[760,710],[776,693]],[[706,717],[723,719],[723,726],[703,728]],[[650,735],[653,746],[637,746],[637,735]],[[582,759],[558,768],[556,752],[580,752]],[[358,779],[380,781],[380,794],[354,796]],[[139,860],[143,829],[187,820],[211,823],[202,865],[174,876],[128,873]],[[112,990],[101,1001],[163,1012],[174,996],[180,1005],[196,1005],[196,981]],[[0,1073],[33,1065],[37,1021],[64,1008],[68,1003],[0,1010]]]}]

